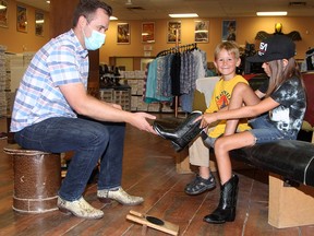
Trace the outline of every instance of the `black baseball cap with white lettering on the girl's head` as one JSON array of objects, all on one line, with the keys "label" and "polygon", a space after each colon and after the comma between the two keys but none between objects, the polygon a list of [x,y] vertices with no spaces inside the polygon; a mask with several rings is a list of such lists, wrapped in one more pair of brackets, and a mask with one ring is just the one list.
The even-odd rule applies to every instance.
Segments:
[{"label": "black baseball cap with white lettering on the girl's head", "polygon": [[267,62],[273,60],[290,59],[295,55],[295,44],[285,35],[273,35],[259,44],[256,55],[247,57],[250,62]]}]

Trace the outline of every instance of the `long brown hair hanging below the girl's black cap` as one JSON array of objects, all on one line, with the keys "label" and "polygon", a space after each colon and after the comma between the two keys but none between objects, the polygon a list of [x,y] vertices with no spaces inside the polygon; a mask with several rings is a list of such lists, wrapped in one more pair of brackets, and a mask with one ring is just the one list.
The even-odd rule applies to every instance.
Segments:
[{"label": "long brown hair hanging below the girl's black cap", "polygon": [[277,87],[292,76],[299,78],[302,86],[305,88],[299,64],[293,57],[288,60],[286,67],[283,67],[282,60],[273,60],[267,63],[270,70],[270,78],[266,96],[269,96]]}]

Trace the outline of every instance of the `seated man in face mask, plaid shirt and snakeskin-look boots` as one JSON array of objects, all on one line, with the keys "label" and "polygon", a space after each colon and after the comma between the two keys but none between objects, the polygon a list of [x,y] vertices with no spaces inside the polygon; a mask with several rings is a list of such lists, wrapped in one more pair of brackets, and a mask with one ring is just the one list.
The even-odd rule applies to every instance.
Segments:
[{"label": "seated man in face mask, plaid shirt and snakeskin-look boots", "polygon": [[83,198],[99,158],[100,201],[113,199],[129,205],[144,201],[121,188],[124,123],[154,133],[146,120],[154,116],[124,111],[86,93],[87,50],[99,49],[105,43],[111,14],[111,7],[105,2],[82,0],[74,12],[73,28],[52,38],[35,55],[12,114],[11,131],[21,146],[52,153],[74,151],[58,192],[58,208],[85,219],[104,216]]}]

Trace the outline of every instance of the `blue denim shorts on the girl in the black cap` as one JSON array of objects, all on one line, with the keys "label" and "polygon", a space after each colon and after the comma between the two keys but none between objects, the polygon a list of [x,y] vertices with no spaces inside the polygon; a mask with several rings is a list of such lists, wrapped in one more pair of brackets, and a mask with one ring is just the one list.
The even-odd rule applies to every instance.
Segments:
[{"label": "blue denim shorts on the girl in the black cap", "polygon": [[267,119],[268,114],[249,120],[249,125],[253,128],[247,130],[255,137],[256,143],[273,142],[276,140],[295,140],[297,135],[292,132],[280,131],[276,126]]}]

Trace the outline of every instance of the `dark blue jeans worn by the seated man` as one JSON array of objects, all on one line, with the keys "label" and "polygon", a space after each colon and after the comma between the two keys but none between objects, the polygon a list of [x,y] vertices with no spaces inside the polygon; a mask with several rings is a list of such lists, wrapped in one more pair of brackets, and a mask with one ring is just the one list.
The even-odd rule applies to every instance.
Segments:
[{"label": "dark blue jeans worn by the seated man", "polygon": [[15,141],[24,149],[51,153],[74,151],[59,196],[74,201],[101,158],[98,189],[121,185],[125,123],[98,122],[82,118],[56,117],[24,128]]}]

